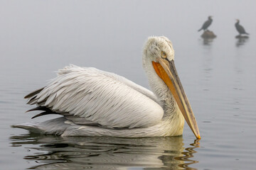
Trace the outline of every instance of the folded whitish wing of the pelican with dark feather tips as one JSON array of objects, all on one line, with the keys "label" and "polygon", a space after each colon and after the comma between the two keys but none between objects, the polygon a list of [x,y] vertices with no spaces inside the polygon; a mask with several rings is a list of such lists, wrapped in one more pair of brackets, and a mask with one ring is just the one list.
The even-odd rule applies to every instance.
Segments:
[{"label": "folded whitish wing of the pelican with dark feather tips", "polygon": [[156,96],[144,87],[117,74],[74,65],[60,69],[48,86],[27,98],[74,122],[107,128],[149,127],[164,115]]}]

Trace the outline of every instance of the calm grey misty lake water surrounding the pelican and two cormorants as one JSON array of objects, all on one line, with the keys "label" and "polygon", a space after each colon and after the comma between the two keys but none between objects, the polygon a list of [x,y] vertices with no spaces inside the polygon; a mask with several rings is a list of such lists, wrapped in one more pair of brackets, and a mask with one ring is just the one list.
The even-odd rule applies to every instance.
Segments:
[{"label": "calm grey misty lake water surrounding the pelican and two cormorants", "polygon": [[[255,169],[255,1],[1,1],[1,169]],[[203,40],[201,28],[213,16]],[[250,38],[238,40],[239,18]],[[174,44],[196,115],[181,137],[55,137],[11,128],[31,121],[23,96],[68,64],[97,67],[148,88],[142,46]],[[44,116],[41,119],[52,118]],[[38,120],[41,120],[38,118]]]}]

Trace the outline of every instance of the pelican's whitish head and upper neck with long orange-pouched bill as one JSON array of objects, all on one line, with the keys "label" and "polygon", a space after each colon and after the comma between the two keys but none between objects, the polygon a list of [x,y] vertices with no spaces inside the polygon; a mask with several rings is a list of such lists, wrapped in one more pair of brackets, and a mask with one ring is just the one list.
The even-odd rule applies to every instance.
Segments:
[{"label": "pelican's whitish head and upper neck with long orange-pouched bill", "polygon": [[[156,95],[159,95],[160,98],[161,95],[164,95],[161,93],[166,92],[158,90],[157,86],[165,86],[163,89],[169,89],[169,91],[171,91],[171,94],[174,96],[178,108],[181,110],[188,126],[191,128],[194,135],[200,139],[201,137],[196,123],[196,118],[193,115],[192,108],[176,72],[174,64],[174,48],[172,47],[171,41],[163,36],[150,37],[146,41],[142,60],[143,67],[149,77],[149,84],[151,84],[152,90]],[[160,78],[160,81],[162,81],[161,84],[156,83],[155,79],[158,77]],[[160,88],[161,87],[159,87],[159,89]]]}]

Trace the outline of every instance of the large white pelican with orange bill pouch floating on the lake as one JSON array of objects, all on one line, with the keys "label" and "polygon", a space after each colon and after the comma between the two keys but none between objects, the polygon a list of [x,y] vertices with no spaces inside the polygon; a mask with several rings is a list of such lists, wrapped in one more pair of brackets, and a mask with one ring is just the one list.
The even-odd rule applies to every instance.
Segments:
[{"label": "large white pelican with orange bill pouch floating on the lake", "polygon": [[13,125],[61,136],[166,137],[183,133],[184,119],[200,133],[174,65],[174,48],[164,37],[149,37],[142,55],[152,91],[117,74],[70,65],[47,86],[25,96],[28,104],[60,118]]}]

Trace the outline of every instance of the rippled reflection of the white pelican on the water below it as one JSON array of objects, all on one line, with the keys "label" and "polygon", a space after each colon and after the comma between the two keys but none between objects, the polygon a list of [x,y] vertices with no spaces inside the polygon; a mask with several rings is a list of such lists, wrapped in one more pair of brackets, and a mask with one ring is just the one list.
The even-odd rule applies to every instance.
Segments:
[{"label": "rippled reflection of the white pelican on the water below it", "polygon": [[[183,147],[183,137],[56,137],[35,134],[12,136],[12,147],[29,150],[29,169],[193,169],[199,147],[195,140]],[[30,165],[31,165],[30,164]]]}]

